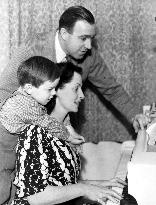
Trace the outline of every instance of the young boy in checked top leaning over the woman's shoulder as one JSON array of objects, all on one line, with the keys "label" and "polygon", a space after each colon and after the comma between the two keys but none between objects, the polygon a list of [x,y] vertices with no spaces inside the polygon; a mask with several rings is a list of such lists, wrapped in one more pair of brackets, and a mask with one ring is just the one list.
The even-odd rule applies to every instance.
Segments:
[{"label": "young boy in checked top leaning over the woman's shoulder", "polygon": [[[45,105],[56,94],[62,68],[50,60],[34,56],[19,66],[19,89],[14,92],[0,111],[0,122],[12,134],[19,134],[29,124],[39,125],[53,133],[54,122],[47,114]],[[76,135],[76,138],[81,137]],[[75,144],[74,137],[68,137]],[[77,143],[77,139],[76,139]]]}]

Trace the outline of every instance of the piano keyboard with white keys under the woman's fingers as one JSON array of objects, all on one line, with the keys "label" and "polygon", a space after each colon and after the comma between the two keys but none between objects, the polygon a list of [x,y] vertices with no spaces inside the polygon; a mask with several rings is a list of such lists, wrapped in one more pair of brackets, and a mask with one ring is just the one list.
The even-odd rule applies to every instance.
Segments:
[{"label": "piano keyboard with white keys under the woman's fingers", "polygon": [[[123,142],[122,144],[122,152],[121,152],[121,158],[119,165],[116,169],[115,177],[118,177],[125,181],[126,176],[127,176],[127,163],[130,161],[131,156],[132,156],[132,151],[134,148],[135,142],[134,141],[126,141]],[[123,189],[119,187],[113,187],[113,190],[117,191],[118,193],[122,194]],[[110,200],[106,202],[106,205],[117,205],[119,203],[114,203]]]}]

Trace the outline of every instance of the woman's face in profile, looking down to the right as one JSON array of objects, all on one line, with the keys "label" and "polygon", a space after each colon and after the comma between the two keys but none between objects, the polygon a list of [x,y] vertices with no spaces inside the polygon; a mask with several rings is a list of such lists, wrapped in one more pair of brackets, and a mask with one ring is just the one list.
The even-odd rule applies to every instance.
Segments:
[{"label": "woman's face in profile, looking down to the right", "polygon": [[71,82],[57,90],[56,105],[59,105],[65,112],[77,112],[79,103],[84,99],[82,92],[82,78],[77,72],[74,72]]}]

